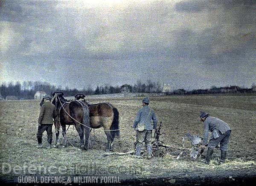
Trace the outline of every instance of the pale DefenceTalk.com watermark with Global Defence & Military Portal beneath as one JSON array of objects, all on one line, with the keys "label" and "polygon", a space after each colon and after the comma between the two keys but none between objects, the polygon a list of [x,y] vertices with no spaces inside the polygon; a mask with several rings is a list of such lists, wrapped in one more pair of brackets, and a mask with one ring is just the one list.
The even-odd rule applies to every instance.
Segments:
[{"label": "pale DefenceTalk.com watermark with Global Defence & Military Portal beneath", "polygon": [[35,166],[26,162],[15,166],[1,163],[0,166],[2,176],[17,175],[18,183],[120,183],[120,175],[139,174],[144,171],[140,166],[109,165],[93,161],[71,166]]}]

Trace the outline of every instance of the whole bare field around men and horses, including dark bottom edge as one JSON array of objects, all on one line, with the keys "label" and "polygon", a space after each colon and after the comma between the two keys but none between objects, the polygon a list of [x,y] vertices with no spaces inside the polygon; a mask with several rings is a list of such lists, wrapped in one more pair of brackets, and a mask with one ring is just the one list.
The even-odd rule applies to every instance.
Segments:
[{"label": "whole bare field around men and horses, including dark bottom edge", "polygon": [[[89,100],[90,103],[111,102],[119,110],[121,131],[119,139],[114,141],[116,152],[134,149],[135,133],[131,125],[141,107],[141,99]],[[180,147],[182,136],[186,132],[202,135],[202,123],[198,120],[201,110],[228,122],[232,134],[227,163],[221,166],[216,165],[220,156],[218,149],[215,149],[210,165],[205,165],[200,159],[190,160],[189,151],[184,151],[184,155],[176,160],[181,152],[179,149],[168,149],[165,157],[152,160],[134,159],[131,155],[103,157],[106,136],[102,128],[91,132],[89,151],[79,151],[79,137],[73,126],[67,132],[67,148],[60,146],[47,150],[47,137],[44,134],[44,148],[37,149],[35,145],[39,102],[0,102],[0,179],[5,185],[96,184],[91,183],[89,178],[87,182],[84,181],[83,177],[99,177],[98,184],[101,177],[114,177],[119,179],[119,183],[115,185],[143,186],[233,186],[248,185],[256,180],[256,96],[151,97],[150,107],[155,110],[158,120],[163,122],[162,130],[166,133],[161,139],[169,145]],[[55,139],[55,136],[53,138]],[[186,145],[189,146],[189,143]],[[22,170],[19,170],[19,167]],[[51,168],[54,171],[50,171]],[[63,171],[58,171],[58,168],[63,168]],[[26,176],[38,177],[39,183],[19,183],[18,177]],[[64,177],[65,182],[41,183],[41,177],[46,179],[48,176]],[[71,183],[66,182],[68,177],[71,177]],[[74,183],[74,177],[82,179]],[[112,185],[114,181],[107,183]]]}]

